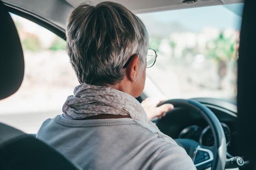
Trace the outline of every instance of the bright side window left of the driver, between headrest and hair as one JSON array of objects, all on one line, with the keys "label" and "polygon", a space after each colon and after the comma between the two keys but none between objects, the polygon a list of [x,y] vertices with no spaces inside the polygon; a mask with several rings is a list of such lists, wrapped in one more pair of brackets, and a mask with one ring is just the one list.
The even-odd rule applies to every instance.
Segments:
[{"label": "bright side window left of the driver, between headrest and hair", "polygon": [[62,113],[62,105],[79,84],[65,51],[65,40],[11,14],[22,44],[25,75],[19,90],[0,101],[0,120],[36,133],[45,119]]}]

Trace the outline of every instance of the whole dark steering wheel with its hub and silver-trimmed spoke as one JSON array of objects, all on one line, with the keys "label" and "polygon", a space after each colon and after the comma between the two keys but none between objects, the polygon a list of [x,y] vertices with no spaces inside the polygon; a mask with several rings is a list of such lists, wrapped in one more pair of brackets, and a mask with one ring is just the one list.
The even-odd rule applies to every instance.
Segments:
[{"label": "whole dark steering wheel with its hub and silver-trimmed spoke", "polygon": [[[186,108],[193,112],[199,113],[209,124],[214,137],[213,146],[202,146],[198,142],[191,139],[175,139],[177,144],[183,146],[184,149],[189,154],[198,170],[204,170],[211,167],[211,170],[224,170],[226,163],[226,138],[220,121],[214,115],[214,113],[202,105],[200,102],[197,102],[192,99],[170,99],[158,104],[173,104],[174,108]],[[175,109],[169,111],[167,114],[175,111]],[[164,117],[162,118],[164,119]]]}]

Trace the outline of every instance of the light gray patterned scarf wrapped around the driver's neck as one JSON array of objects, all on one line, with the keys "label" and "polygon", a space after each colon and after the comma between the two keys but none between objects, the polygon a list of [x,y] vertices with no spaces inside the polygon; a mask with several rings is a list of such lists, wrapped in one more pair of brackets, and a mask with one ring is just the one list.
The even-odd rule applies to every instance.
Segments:
[{"label": "light gray patterned scarf wrapped around the driver's neck", "polygon": [[105,86],[82,83],[74,89],[74,96],[68,96],[63,113],[74,119],[110,114],[125,115],[145,124],[148,123],[141,104],[131,95]]}]

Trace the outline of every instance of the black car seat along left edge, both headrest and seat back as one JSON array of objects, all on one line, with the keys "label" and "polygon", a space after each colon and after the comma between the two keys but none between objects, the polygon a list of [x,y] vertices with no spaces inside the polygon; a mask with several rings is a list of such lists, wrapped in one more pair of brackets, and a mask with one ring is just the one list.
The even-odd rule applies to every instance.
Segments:
[{"label": "black car seat along left edge, both headrest and seat back", "polygon": [[[0,1],[0,99],[15,93],[24,76],[16,27]],[[43,141],[0,123],[0,170],[82,170]]]}]

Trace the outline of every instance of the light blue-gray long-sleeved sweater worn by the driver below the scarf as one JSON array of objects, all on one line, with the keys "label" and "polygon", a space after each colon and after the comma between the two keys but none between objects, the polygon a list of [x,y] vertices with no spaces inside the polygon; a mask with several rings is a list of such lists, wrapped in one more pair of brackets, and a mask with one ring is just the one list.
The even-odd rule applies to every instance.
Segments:
[{"label": "light blue-gray long-sleeved sweater worn by the driver below the scarf", "polygon": [[152,122],[69,120],[58,115],[43,123],[37,138],[84,170],[196,170],[186,151]]}]

